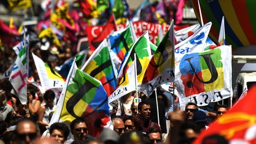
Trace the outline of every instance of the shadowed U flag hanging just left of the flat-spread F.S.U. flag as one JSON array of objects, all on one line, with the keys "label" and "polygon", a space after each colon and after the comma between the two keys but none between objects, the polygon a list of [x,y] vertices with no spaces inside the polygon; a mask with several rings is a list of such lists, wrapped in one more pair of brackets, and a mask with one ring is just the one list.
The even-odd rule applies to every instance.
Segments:
[{"label": "shadowed U flag hanging just left of the flat-spread F.S.U. flag", "polygon": [[156,87],[166,82],[174,81],[174,24],[173,21],[167,33],[153,54],[143,77],[140,91],[151,95]]}]

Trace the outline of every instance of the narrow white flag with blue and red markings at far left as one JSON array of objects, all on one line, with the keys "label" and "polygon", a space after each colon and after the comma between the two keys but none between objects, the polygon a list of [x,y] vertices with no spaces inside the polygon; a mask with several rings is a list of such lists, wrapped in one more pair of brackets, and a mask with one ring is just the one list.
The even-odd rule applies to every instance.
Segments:
[{"label": "narrow white flag with blue and red markings at far left", "polygon": [[11,75],[9,76],[9,82],[21,102],[21,104],[27,104],[27,78],[28,78],[28,36],[23,37],[20,43],[20,53],[18,54],[14,66],[12,68]]}]

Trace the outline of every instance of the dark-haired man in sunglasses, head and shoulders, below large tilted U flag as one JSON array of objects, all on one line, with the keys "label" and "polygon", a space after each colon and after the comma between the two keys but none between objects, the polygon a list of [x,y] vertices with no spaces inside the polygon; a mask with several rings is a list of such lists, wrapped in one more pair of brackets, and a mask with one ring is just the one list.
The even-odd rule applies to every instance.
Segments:
[{"label": "dark-haired man in sunglasses, head and shoulders, below large tilted U flag", "polygon": [[87,123],[84,118],[77,118],[73,120],[70,124],[71,128],[71,133],[74,137],[74,141],[72,142],[73,144],[81,144],[84,143],[88,139],[94,139],[92,136],[88,135],[88,128],[87,128]]}]

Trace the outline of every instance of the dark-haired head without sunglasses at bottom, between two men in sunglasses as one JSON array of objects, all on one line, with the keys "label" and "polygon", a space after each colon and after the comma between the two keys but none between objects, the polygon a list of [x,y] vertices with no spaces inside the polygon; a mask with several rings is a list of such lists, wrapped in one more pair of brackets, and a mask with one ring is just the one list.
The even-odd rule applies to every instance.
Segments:
[{"label": "dark-haired head without sunglasses at bottom, between two men in sunglasses", "polygon": [[66,143],[69,135],[69,127],[65,123],[53,123],[49,129],[50,137],[55,139],[56,143]]}]

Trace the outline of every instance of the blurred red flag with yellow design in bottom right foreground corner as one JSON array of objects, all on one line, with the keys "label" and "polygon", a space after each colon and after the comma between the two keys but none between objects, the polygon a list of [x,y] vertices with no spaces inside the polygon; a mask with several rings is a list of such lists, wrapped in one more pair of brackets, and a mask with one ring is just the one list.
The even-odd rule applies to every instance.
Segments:
[{"label": "blurred red flag with yellow design in bottom right foreground corner", "polygon": [[219,134],[229,143],[256,143],[256,86],[239,100],[227,113],[219,117],[209,129],[201,133],[194,144],[202,143],[204,137]]}]

